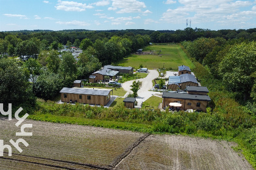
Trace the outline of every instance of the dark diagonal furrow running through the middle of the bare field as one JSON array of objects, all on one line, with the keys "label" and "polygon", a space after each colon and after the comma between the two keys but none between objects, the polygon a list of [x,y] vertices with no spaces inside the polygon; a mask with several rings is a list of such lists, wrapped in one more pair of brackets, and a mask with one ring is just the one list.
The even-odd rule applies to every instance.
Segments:
[{"label": "dark diagonal furrow running through the middle of the bare field", "polygon": [[133,144],[131,144],[126,149],[126,151],[123,152],[123,154],[116,157],[115,160],[113,160],[113,162],[109,166],[116,168],[116,166],[118,166],[119,163],[121,163],[121,161],[123,161],[130,154],[130,152],[132,152],[133,149],[135,149],[142,141],[144,141],[147,137],[149,137],[149,135],[151,135],[151,134],[147,133],[147,134],[143,135],[142,137],[138,138],[138,140],[135,141]]}]

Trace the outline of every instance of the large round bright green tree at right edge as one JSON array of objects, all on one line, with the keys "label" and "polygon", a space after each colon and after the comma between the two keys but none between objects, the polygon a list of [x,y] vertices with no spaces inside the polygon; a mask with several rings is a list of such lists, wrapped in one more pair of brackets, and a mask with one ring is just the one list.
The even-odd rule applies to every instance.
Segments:
[{"label": "large round bright green tree at right edge", "polygon": [[256,42],[235,44],[219,64],[219,74],[226,88],[240,92],[244,100],[252,90],[256,71]]}]

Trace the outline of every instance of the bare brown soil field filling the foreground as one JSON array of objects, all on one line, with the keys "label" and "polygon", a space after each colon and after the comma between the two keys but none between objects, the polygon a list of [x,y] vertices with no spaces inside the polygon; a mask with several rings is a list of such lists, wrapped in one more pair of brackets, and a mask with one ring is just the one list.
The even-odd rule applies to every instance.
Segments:
[{"label": "bare brown soil field filling the foreground", "polygon": [[12,157],[5,149],[0,169],[252,169],[226,141],[32,120],[25,131],[33,136],[16,137],[15,123],[0,119],[0,139],[29,146],[20,143],[22,153],[12,146]]}]

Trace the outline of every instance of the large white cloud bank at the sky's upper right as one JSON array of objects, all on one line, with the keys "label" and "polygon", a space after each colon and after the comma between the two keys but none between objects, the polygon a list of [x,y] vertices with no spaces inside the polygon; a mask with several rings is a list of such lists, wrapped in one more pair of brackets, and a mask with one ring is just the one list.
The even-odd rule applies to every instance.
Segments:
[{"label": "large white cloud bank at the sky's upper right", "polygon": [[[167,1],[166,1],[167,2]],[[240,12],[241,7],[249,7],[251,1],[232,1],[232,0],[179,0],[182,6],[177,9],[168,9],[163,13],[160,21],[168,23],[185,23],[186,19],[191,19],[193,23],[207,22],[227,22],[231,19],[237,19],[233,22],[246,21],[253,17],[243,15]]]}]

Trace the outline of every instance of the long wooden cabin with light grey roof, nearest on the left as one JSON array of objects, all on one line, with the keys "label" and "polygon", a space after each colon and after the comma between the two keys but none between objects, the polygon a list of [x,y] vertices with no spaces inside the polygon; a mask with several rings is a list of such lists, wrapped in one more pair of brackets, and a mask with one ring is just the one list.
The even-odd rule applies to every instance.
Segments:
[{"label": "long wooden cabin with light grey roof, nearest on the left", "polygon": [[64,87],[60,90],[62,102],[106,105],[111,90],[79,89]]}]

